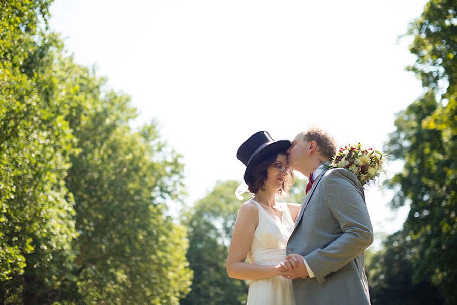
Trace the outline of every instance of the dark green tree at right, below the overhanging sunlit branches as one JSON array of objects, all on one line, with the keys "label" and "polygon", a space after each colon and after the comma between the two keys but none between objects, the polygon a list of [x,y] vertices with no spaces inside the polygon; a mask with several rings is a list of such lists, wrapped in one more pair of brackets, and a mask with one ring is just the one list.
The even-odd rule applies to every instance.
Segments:
[{"label": "dark green tree at right, below the overhanging sunlit branches", "polygon": [[393,187],[398,187],[393,206],[410,205],[403,231],[417,241],[418,258],[412,262],[414,282],[432,275],[433,284],[441,288],[448,303],[453,303],[457,300],[452,288],[457,280],[457,160],[455,133],[450,132],[455,123],[442,130],[430,128],[431,121],[442,120],[437,113],[448,109],[428,92],[399,114],[388,148],[397,158],[404,156],[405,161],[403,171],[392,179]]}]

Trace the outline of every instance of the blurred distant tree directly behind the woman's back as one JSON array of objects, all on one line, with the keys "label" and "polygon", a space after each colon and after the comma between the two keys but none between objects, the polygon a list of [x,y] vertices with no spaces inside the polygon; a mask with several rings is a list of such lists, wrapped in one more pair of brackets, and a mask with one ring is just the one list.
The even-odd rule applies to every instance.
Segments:
[{"label": "blurred distant tree directly behind the woman's back", "polygon": [[246,282],[230,279],[225,269],[233,226],[242,204],[234,195],[238,184],[218,182],[211,193],[185,214],[189,236],[187,259],[194,271],[194,281],[181,305],[246,303]]}]

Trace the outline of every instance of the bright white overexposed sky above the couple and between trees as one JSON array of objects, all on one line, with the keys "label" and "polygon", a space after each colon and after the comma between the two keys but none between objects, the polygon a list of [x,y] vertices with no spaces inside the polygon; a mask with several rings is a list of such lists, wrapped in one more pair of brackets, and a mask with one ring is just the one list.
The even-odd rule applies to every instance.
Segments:
[{"label": "bright white overexposed sky above the couple and between trees", "polygon": [[[217,180],[241,181],[236,151],[260,130],[292,139],[318,125],[341,145],[382,149],[395,113],[422,93],[404,70],[415,60],[411,38],[398,36],[425,3],[56,0],[50,26],[77,63],[96,64],[132,96],[133,126],[159,122],[184,155],[192,205]],[[390,198],[367,191],[378,233],[406,217],[390,211]]]}]

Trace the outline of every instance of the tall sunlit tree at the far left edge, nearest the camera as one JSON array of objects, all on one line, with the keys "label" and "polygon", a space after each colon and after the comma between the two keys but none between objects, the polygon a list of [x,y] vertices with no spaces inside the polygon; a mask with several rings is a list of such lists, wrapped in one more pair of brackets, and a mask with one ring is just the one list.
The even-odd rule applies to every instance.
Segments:
[{"label": "tall sunlit tree at the far left edge, nearest the camera", "polygon": [[74,137],[52,65],[62,46],[39,30],[49,1],[0,4],[0,302],[37,302],[62,286],[74,257],[65,186]]}]

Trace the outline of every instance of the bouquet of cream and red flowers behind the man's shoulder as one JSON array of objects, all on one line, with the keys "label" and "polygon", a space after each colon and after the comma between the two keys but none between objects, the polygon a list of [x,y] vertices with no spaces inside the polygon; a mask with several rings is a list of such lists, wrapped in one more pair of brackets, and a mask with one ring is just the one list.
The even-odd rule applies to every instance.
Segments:
[{"label": "bouquet of cream and red flowers behind the man's shoulder", "polygon": [[362,186],[373,181],[383,169],[382,153],[373,148],[364,149],[362,145],[348,145],[341,147],[330,161],[330,168],[346,168],[361,182]]}]

